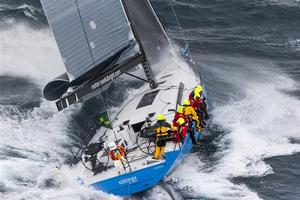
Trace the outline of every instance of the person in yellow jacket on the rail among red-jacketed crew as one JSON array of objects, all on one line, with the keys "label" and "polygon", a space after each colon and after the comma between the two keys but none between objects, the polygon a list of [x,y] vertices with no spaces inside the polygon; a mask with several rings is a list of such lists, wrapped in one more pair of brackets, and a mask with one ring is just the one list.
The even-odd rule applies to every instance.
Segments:
[{"label": "person in yellow jacket on the rail among red-jacketed crew", "polygon": [[183,106],[184,106],[183,114],[189,119],[189,122],[190,122],[189,129],[191,130],[190,131],[191,140],[192,140],[193,144],[199,144],[199,142],[196,141],[195,133],[192,128],[192,122],[195,121],[196,129],[198,131],[201,131],[198,115],[197,115],[196,111],[194,110],[194,108],[192,106],[190,106],[190,101],[188,99],[185,99],[183,101]]}]

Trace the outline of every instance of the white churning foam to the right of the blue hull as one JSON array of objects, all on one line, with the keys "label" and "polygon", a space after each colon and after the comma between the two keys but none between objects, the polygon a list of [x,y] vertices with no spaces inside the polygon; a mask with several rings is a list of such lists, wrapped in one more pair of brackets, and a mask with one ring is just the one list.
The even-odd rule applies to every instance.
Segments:
[{"label": "white churning foam to the right of the blue hull", "polygon": [[227,132],[217,144],[220,147],[215,154],[218,161],[207,168],[203,167],[204,163],[195,162],[198,158],[191,155],[174,176],[179,178],[181,188],[190,187],[201,196],[259,199],[246,185],[233,183],[231,179],[273,173],[265,158],[300,152],[300,145],[290,141],[300,137],[300,101],[288,93],[299,85],[285,75],[266,73],[262,68],[257,70],[257,76],[249,77],[249,72],[248,78],[241,79],[242,74],[235,77],[232,71],[226,72],[222,67],[224,79],[239,82],[236,93],[241,98],[216,106],[213,111],[214,123]]}]

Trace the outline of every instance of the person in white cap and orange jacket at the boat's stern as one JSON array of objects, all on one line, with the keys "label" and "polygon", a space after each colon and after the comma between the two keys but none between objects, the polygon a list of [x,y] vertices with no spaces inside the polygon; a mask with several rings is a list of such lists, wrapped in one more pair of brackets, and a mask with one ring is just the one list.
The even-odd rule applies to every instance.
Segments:
[{"label": "person in white cap and orange jacket at the boat's stern", "polygon": [[129,163],[126,159],[125,148],[120,145],[116,145],[115,142],[109,143],[108,148],[108,155],[114,161],[114,166],[119,170],[119,173],[122,169],[126,171],[126,166],[128,166]]}]

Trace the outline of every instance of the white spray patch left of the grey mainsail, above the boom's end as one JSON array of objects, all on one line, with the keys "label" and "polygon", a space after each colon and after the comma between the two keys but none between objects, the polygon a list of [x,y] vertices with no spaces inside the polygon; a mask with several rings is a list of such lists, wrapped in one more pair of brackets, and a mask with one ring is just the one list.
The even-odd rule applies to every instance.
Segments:
[{"label": "white spray patch left of the grey mainsail, above the boom's end", "polygon": [[16,24],[0,31],[0,75],[50,80],[64,71],[58,48],[49,30],[32,30]]}]

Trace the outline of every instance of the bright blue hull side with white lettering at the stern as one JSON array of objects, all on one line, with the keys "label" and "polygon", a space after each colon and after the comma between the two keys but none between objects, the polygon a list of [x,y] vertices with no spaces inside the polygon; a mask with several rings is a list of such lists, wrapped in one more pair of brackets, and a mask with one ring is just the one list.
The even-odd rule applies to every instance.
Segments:
[{"label": "bright blue hull side with white lettering at the stern", "polygon": [[[195,137],[199,139],[200,132],[196,132]],[[117,196],[128,196],[149,189],[168,175],[191,152],[192,147],[192,141],[187,136],[180,150],[166,152],[164,162],[96,182],[91,187]]]}]

